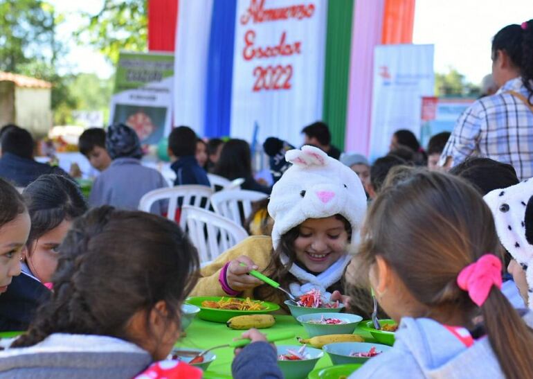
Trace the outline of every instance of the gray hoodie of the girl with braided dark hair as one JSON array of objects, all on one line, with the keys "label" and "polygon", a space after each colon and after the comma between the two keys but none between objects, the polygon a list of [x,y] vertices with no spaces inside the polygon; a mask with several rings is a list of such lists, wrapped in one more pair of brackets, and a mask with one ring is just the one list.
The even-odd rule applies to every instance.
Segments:
[{"label": "gray hoodie of the girl with braided dark hair", "polygon": [[56,333],[0,351],[0,378],[133,378],[150,363],[147,351],[118,338]]}]

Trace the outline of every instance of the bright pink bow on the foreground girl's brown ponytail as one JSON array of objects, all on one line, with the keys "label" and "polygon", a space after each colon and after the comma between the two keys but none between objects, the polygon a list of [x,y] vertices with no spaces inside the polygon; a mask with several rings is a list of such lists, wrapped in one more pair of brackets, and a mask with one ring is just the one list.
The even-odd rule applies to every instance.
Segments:
[{"label": "bright pink bow on the foreground girl's brown ponytail", "polygon": [[467,291],[470,299],[482,306],[489,297],[493,285],[502,288],[502,262],[494,254],[485,254],[478,261],[464,267],[457,277],[461,290]]}]

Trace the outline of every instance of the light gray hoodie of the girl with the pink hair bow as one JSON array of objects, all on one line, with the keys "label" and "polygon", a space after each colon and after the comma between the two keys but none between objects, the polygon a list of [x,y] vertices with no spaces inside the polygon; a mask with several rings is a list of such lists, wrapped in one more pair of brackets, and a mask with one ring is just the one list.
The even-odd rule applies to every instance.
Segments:
[{"label": "light gray hoodie of the girl with the pink hair bow", "polygon": [[[532,312],[523,317],[533,325]],[[360,378],[505,378],[489,339],[467,348],[433,319],[401,319],[394,349],[372,358],[350,379]]]}]

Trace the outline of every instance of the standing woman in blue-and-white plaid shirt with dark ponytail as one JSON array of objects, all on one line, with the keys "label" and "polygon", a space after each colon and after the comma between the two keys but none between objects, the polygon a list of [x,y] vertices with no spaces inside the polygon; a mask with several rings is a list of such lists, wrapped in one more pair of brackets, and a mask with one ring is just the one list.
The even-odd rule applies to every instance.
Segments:
[{"label": "standing woman in blue-and-white plaid shirt with dark ponytail", "polygon": [[492,75],[500,89],[463,112],[440,164],[488,157],[512,164],[520,179],[533,177],[533,19],[496,33]]}]

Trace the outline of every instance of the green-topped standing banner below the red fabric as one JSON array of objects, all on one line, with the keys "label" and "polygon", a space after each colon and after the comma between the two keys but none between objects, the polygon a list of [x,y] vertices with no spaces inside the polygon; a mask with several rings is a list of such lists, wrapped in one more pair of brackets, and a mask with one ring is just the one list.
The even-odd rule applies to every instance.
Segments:
[{"label": "green-topped standing banner below the red fabric", "polygon": [[156,144],[170,133],[174,55],[120,53],[109,123],[133,127],[141,143]]}]

